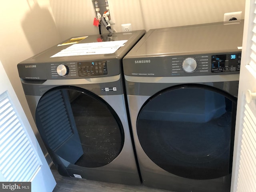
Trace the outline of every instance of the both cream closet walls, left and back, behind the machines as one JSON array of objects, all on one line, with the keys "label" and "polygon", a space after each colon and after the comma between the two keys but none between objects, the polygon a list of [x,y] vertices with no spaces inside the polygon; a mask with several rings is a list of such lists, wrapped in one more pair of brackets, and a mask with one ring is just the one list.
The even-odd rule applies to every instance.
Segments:
[{"label": "both cream closet walls, left and back, behind the machines", "polygon": [[[108,0],[116,31],[219,22],[225,12],[243,11],[245,0]],[[98,34],[91,0],[0,0],[0,60],[28,120],[17,64],[71,36]],[[244,18],[244,16],[243,16]],[[106,30],[103,32],[106,32]],[[4,82],[0,82],[4,83]],[[42,142],[39,140],[39,143]],[[45,149],[43,149],[46,153]]]}]

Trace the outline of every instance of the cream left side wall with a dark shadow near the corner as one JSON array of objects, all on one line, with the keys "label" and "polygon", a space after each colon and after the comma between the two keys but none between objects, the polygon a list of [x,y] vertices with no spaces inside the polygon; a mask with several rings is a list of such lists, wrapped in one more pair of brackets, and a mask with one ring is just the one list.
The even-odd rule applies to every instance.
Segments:
[{"label": "cream left side wall with a dark shadow near the corner", "polygon": [[[60,36],[48,0],[0,0],[0,14],[0,60],[38,137],[22,90],[17,64],[58,43]],[[38,142],[43,146],[42,141]],[[46,154],[45,148],[42,150]]]}]

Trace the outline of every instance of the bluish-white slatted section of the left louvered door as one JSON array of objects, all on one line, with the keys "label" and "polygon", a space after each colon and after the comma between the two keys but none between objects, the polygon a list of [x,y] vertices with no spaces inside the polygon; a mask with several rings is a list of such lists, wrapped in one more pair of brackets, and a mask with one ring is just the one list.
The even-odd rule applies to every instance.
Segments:
[{"label": "bluish-white slatted section of the left louvered door", "polygon": [[7,182],[29,182],[40,166],[8,92],[0,94],[0,172]]}]

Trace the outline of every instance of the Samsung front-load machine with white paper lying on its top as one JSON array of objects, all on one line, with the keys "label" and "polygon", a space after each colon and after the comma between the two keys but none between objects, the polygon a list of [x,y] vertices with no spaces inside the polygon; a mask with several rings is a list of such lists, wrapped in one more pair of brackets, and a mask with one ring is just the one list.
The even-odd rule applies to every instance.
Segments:
[{"label": "Samsung front-load machine with white paper lying on its top", "polygon": [[74,37],[18,64],[38,132],[61,175],[141,184],[122,58],[144,34]]}]

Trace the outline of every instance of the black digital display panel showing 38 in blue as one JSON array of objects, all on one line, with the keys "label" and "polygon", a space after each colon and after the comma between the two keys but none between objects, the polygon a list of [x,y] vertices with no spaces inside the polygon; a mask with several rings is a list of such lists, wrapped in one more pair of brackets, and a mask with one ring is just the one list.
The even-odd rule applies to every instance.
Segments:
[{"label": "black digital display panel showing 38 in blue", "polygon": [[212,72],[239,71],[241,53],[212,55]]}]

